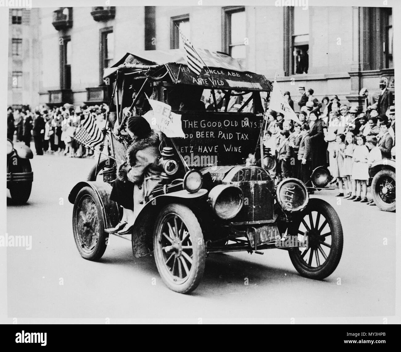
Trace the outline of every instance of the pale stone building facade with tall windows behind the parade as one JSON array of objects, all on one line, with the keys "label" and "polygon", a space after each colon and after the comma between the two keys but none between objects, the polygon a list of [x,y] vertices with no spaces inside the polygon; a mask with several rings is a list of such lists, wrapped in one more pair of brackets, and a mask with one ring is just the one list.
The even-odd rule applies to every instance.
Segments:
[{"label": "pale stone building facade with tall windows behind the parade", "polygon": [[[298,85],[361,103],[360,88],[394,90],[391,8],[132,6],[41,8],[38,101],[107,101],[104,67],[135,50],[179,48],[178,28],[199,48],[223,51],[250,71],[276,77],[296,101]],[[297,106],[297,104],[295,104]]]}]

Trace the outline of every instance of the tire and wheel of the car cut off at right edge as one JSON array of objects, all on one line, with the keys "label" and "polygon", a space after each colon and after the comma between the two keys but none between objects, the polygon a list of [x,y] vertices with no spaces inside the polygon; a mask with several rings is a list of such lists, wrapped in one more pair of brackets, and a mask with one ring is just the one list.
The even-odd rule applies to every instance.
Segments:
[{"label": "tire and wheel of the car cut off at right edge", "polygon": [[[383,193],[385,190],[385,193]],[[379,171],[373,177],[371,192],[377,208],[384,212],[395,211],[395,172],[390,169]]]}]

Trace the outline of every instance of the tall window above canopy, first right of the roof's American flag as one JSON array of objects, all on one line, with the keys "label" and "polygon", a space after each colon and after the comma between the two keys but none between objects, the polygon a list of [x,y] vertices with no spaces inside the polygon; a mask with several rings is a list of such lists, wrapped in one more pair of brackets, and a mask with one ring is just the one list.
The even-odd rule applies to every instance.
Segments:
[{"label": "tall window above canopy, first right of the roof's American flag", "polygon": [[243,66],[246,66],[246,36],[245,8],[223,8],[223,51]]}]

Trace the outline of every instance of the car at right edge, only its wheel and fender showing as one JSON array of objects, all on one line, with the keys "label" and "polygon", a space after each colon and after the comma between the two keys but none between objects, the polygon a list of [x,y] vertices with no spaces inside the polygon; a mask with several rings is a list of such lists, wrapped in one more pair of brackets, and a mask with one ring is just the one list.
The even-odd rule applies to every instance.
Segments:
[{"label": "car at right edge, only its wheel and fender showing", "polygon": [[369,182],[375,204],[385,212],[395,211],[395,147],[391,159],[383,159],[369,168]]}]

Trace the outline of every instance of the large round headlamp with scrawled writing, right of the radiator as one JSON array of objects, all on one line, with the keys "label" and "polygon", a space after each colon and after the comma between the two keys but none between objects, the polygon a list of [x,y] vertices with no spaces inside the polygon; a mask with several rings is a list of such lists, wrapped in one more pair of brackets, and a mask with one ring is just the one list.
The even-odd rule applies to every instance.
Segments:
[{"label": "large round headlamp with scrawled writing, right of the radiator", "polygon": [[303,210],[309,201],[308,190],[297,178],[286,178],[277,185],[277,202],[286,212]]}]

